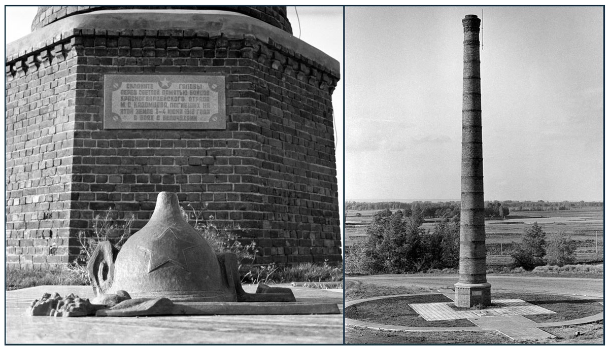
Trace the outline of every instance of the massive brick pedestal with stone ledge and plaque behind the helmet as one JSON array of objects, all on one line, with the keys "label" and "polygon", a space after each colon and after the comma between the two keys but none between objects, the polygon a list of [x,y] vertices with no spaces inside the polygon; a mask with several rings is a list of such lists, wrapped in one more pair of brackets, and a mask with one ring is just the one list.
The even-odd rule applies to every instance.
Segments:
[{"label": "massive brick pedestal with stone ledge and plaque behind the helmet", "polygon": [[72,262],[107,209],[136,231],[161,191],[256,263],[340,262],[339,63],[286,7],[40,7],[32,29],[5,60],[8,267]]}]

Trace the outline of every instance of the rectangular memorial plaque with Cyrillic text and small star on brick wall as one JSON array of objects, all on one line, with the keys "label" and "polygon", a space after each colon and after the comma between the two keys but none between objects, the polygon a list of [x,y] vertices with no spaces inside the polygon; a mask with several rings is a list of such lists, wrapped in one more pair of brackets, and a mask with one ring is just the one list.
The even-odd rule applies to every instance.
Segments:
[{"label": "rectangular memorial plaque with Cyrillic text and small star on brick wall", "polygon": [[105,75],[104,129],[226,129],[224,75]]}]

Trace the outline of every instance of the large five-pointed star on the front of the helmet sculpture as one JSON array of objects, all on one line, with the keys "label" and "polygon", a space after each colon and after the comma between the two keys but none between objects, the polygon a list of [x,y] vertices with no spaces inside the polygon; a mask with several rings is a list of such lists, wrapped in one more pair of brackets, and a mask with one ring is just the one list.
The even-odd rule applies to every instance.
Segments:
[{"label": "large five-pointed star on the front of the helmet sculpture", "polygon": [[166,263],[188,272],[186,250],[197,248],[199,245],[183,240],[175,234],[174,230],[167,228],[161,235],[153,238],[146,246],[138,246],[150,256],[148,273],[158,270]]}]

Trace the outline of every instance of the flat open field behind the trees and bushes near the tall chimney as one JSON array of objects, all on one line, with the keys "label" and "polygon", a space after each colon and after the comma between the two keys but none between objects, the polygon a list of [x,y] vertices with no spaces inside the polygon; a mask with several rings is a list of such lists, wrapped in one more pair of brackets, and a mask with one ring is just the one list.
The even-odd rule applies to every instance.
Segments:
[{"label": "flat open field behind the trees and bushes near the tall chimney", "polygon": [[[345,221],[345,245],[353,245],[366,236],[366,228],[377,211],[348,211]],[[356,216],[361,214],[361,216]],[[438,219],[428,219],[424,229],[434,229]],[[603,210],[602,208],[582,208],[568,211],[510,212],[506,220],[487,220],[487,265],[508,265],[509,245],[519,242],[524,228],[537,222],[546,232],[546,240],[563,231],[570,235],[577,245],[579,263],[599,263],[603,261]],[[596,253],[598,243],[598,254]],[[503,249],[503,252],[502,252]]]}]

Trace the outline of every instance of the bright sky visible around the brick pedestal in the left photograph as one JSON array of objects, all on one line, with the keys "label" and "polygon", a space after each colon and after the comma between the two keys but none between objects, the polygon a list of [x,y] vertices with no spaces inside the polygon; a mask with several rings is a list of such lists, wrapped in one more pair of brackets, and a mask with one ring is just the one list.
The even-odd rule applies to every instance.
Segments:
[{"label": "bright sky visible around the brick pedestal in the left photograph", "polygon": [[[135,3],[135,2],[132,2]],[[150,2],[146,2],[150,4]],[[36,6],[5,7],[6,41],[10,43],[30,33]],[[298,12],[298,15],[297,15]],[[288,6],[287,15],[292,33],[300,40],[322,50],[340,63],[343,69],[343,9],[341,7]],[[298,23],[300,21],[300,30]],[[339,187],[339,211],[343,211],[343,82],[339,81],[333,92],[336,141],[337,179]]]}]

